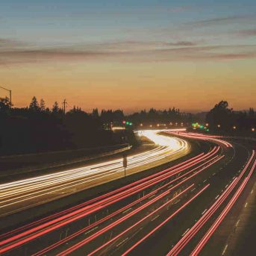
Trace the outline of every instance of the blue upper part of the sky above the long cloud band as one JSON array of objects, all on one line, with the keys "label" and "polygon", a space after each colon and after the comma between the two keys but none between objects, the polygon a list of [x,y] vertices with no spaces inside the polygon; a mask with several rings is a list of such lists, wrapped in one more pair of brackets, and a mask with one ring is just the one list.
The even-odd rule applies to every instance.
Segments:
[{"label": "blue upper part of the sky above the long cloud band", "polygon": [[[175,37],[190,40],[193,33],[200,40],[202,30],[223,34],[253,29],[253,16],[255,1],[16,0],[1,1],[0,30],[4,38],[46,45]],[[217,19],[222,20],[218,23]],[[207,20],[213,20],[212,24]],[[202,21],[207,29],[200,25]],[[187,25],[193,22],[199,24],[191,25],[192,33]],[[225,40],[222,35],[221,42]]]}]

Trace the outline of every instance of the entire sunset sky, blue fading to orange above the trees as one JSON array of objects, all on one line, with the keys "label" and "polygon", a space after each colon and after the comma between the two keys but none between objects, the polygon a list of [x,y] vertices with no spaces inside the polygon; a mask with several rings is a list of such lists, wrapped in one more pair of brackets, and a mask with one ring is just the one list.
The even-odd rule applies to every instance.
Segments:
[{"label": "entire sunset sky, blue fading to orange above the trees", "polygon": [[0,86],[15,107],[245,110],[255,67],[255,0],[0,0]]}]

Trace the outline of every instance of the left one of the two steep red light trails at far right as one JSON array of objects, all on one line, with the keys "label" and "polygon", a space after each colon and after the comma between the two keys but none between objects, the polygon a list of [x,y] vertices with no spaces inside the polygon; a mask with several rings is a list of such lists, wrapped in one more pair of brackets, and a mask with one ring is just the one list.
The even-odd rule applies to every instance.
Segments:
[{"label": "left one of the two steep red light trails at far right", "polygon": [[249,161],[246,163],[246,166],[244,167],[243,172],[240,173],[239,177],[234,178],[232,183],[222,193],[222,195],[218,197],[216,202],[214,202],[214,204],[207,211],[205,211],[204,215],[199,219],[199,221],[196,222],[196,224],[193,225],[192,228],[190,228],[187,234],[185,234],[184,237],[182,237],[181,240],[178,241],[178,243],[172,248],[172,250],[167,254],[167,256],[178,255],[178,253],[181,252],[182,249],[184,249],[184,246],[186,246],[187,243],[189,243],[190,240],[193,239],[193,237],[200,230],[200,228],[202,228],[202,226],[205,225],[207,220],[210,219],[211,216],[213,216],[213,213],[216,212],[216,210],[220,207],[220,205],[222,205],[225,199],[227,199],[227,197],[231,194],[232,190],[234,190],[234,187],[238,184],[240,179],[243,177],[249,165],[252,163],[252,160],[254,157],[255,157],[255,151],[252,152],[252,156],[250,157]]}]

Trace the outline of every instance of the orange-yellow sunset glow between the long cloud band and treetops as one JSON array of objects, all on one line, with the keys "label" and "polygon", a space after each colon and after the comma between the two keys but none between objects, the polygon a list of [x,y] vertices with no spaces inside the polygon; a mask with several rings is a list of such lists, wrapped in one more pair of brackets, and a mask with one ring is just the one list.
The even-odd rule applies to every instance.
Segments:
[{"label": "orange-yellow sunset glow between the long cloud band and treetops", "polygon": [[256,75],[252,66],[244,69],[239,61],[38,63],[1,66],[0,75],[1,84],[13,90],[14,107],[26,107],[37,96],[49,107],[67,99],[68,108],[77,105],[86,111],[122,108],[131,113],[175,106],[197,112],[222,99],[237,110],[255,107]]}]

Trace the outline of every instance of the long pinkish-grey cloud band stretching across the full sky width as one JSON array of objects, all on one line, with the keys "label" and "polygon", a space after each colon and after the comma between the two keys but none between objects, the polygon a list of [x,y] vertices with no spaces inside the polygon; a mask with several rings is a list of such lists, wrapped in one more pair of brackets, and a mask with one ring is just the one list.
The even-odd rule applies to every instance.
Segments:
[{"label": "long pinkish-grey cloud band stretching across the full sky width", "polygon": [[[7,42],[1,39],[0,42]],[[15,42],[15,43],[14,43]],[[154,62],[174,60],[233,60],[255,58],[256,45],[197,46],[190,41],[113,42],[84,46],[38,48],[13,42],[6,49],[0,43],[0,65],[72,61]],[[9,42],[11,45],[11,42]],[[22,48],[23,46],[23,48]]]}]

